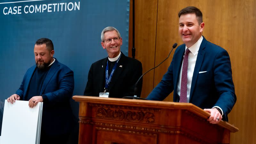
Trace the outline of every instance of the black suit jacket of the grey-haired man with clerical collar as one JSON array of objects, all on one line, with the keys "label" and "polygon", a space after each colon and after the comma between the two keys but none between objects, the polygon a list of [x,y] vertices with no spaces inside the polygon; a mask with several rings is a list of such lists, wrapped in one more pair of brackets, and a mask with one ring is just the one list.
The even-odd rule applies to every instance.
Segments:
[{"label": "black suit jacket of the grey-haired man with clerical collar", "polygon": [[[104,91],[106,83],[105,73],[107,61],[108,57],[92,64],[88,73],[88,81],[84,90],[84,96],[99,96],[99,93]],[[122,98],[124,96],[133,96],[134,85],[141,75],[141,62],[127,57],[122,53],[111,82],[108,86],[108,97]],[[137,97],[140,97],[142,79],[139,81],[137,88]]]}]

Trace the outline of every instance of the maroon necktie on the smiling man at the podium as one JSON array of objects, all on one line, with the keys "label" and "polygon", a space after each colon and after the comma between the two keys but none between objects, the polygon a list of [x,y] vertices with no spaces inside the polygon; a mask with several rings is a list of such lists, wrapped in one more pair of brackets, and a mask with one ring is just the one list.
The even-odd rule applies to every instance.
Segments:
[{"label": "maroon necktie on the smiling man at the podium", "polygon": [[180,84],[180,103],[187,103],[187,84],[188,84],[188,53],[189,49],[186,49],[184,59],[183,59],[183,66],[182,66],[182,73],[181,73],[181,84]]}]

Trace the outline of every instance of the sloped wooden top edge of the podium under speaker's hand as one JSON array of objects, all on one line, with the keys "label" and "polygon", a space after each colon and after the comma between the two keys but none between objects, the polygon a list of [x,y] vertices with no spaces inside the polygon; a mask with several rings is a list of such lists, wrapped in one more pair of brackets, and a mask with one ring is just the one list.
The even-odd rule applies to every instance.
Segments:
[{"label": "sloped wooden top edge of the podium under speaker's hand", "polygon": [[[147,108],[162,108],[162,109],[181,109],[188,110],[196,115],[207,119],[210,113],[205,112],[203,109],[191,103],[177,103],[177,102],[164,102],[153,100],[137,100],[137,99],[124,99],[124,98],[105,98],[105,97],[92,97],[92,96],[73,96],[77,102],[97,103],[97,104],[114,104],[114,105],[127,105],[127,106],[140,106]],[[235,133],[239,129],[226,121],[221,120],[217,125],[227,128],[230,132]]]}]

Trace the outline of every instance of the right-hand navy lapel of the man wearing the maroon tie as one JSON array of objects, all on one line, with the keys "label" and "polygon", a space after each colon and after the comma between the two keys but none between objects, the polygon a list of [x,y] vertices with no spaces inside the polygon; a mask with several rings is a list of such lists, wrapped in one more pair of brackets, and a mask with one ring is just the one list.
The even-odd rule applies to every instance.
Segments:
[{"label": "right-hand navy lapel of the man wearing the maroon tie", "polygon": [[204,54],[205,54],[204,48],[206,47],[206,43],[207,43],[207,40],[205,40],[205,38],[204,38],[199,47],[199,51],[198,51],[197,58],[196,58],[196,65],[195,65],[193,78],[192,78],[192,82],[191,82],[189,102],[191,100],[191,97],[193,97],[193,92],[194,92],[194,88],[196,85],[199,70],[200,70],[203,60],[204,60]]}]

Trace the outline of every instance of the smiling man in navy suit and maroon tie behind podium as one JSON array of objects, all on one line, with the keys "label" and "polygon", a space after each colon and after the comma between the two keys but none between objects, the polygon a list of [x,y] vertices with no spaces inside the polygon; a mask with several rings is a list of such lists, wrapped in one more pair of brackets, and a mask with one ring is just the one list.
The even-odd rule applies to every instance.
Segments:
[{"label": "smiling man in navy suit and maroon tie behind podium", "polygon": [[228,52],[202,36],[204,22],[198,8],[186,7],[178,15],[184,44],[177,48],[168,71],[147,99],[164,100],[174,91],[174,102],[189,102],[211,113],[210,123],[228,121],[236,103]]}]

